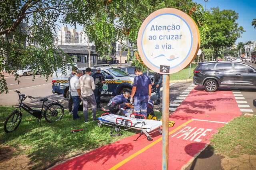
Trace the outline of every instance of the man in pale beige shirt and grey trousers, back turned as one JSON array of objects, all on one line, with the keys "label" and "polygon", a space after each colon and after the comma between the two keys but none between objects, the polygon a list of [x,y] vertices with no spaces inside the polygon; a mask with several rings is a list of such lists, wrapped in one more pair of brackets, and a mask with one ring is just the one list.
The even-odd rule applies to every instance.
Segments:
[{"label": "man in pale beige shirt and grey trousers, back turned", "polygon": [[84,106],[84,122],[88,122],[88,103],[92,106],[92,119],[93,121],[97,121],[96,119],[96,100],[93,93],[95,89],[94,79],[90,74],[92,73],[92,69],[90,67],[86,68],[85,74],[78,81],[77,92],[81,97]]}]

